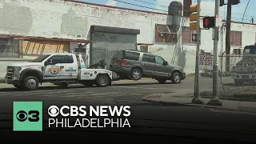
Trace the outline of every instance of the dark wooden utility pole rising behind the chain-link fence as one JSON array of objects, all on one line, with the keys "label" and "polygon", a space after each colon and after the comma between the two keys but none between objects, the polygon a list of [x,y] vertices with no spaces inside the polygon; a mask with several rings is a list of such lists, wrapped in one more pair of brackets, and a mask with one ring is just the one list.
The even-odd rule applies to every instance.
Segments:
[{"label": "dark wooden utility pole rising behind the chain-link fence", "polygon": [[231,25],[231,0],[227,1],[226,11],[226,72],[230,71],[230,25]]}]

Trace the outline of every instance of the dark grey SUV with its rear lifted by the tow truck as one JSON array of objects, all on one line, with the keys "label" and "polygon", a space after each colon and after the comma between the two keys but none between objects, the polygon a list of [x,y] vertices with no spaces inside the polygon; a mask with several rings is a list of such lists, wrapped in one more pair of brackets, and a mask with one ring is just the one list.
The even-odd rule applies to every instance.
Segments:
[{"label": "dark grey SUV with its rear lifted by the tow truck", "polygon": [[179,83],[186,78],[182,67],[169,65],[158,55],[135,50],[118,50],[111,60],[110,70],[120,79],[155,78],[159,83],[166,80]]}]

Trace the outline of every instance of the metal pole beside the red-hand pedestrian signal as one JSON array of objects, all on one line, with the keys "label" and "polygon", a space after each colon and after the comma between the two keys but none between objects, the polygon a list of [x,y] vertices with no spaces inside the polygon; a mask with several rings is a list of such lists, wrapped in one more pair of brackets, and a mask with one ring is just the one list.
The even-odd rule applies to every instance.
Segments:
[{"label": "metal pole beside the red-hand pedestrian signal", "polygon": [[208,105],[211,106],[222,106],[222,102],[218,98],[218,32],[219,27],[218,17],[219,17],[219,1],[215,0],[215,26],[214,26],[214,62],[213,62],[213,98],[210,99]]}]

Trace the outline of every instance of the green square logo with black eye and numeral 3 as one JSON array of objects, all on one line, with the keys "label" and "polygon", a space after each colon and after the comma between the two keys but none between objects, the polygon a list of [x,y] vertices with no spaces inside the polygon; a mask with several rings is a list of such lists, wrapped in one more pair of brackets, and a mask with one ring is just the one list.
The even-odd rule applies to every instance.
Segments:
[{"label": "green square logo with black eye and numeral 3", "polygon": [[42,102],[14,102],[14,131],[42,131]]}]

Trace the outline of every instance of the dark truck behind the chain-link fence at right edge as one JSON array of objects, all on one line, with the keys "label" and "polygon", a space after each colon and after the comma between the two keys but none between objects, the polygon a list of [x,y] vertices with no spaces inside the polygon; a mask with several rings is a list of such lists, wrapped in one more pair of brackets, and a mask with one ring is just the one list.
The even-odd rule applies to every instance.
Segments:
[{"label": "dark truck behind the chain-link fence at right edge", "polygon": [[256,82],[256,44],[245,46],[242,59],[231,69],[236,84]]}]

